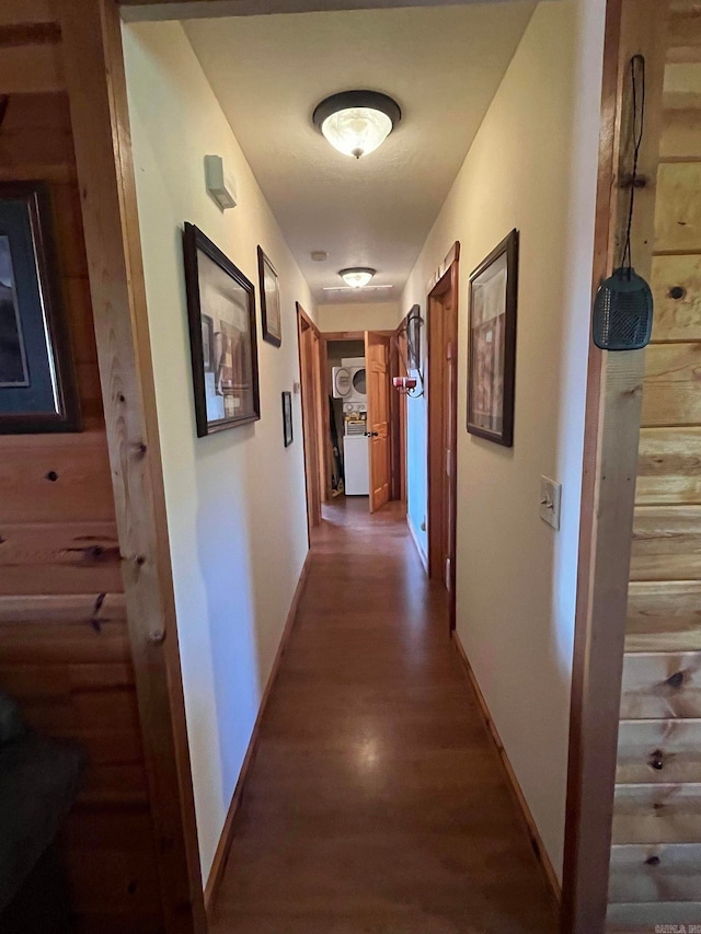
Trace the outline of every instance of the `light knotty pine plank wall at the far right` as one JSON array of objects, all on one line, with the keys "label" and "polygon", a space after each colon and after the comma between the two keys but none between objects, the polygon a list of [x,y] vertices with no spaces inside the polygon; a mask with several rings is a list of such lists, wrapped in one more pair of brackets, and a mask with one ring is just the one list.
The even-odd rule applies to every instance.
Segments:
[{"label": "light knotty pine plank wall at the far right", "polygon": [[701,7],[673,2],[609,930],[701,925]]}]

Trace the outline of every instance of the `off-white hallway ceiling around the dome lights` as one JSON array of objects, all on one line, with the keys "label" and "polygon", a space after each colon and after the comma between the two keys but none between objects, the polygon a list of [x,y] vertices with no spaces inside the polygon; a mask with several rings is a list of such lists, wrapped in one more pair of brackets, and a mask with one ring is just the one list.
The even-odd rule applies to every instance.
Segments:
[{"label": "off-white hallway ceiling around the dome lights", "polygon": [[[397,300],[537,4],[354,10],[184,28],[320,302]],[[337,91],[394,97],[403,118],[359,161],[311,114]],[[450,244],[446,244],[448,250]],[[324,263],[310,253],[329,253]],[[380,291],[327,292],[372,266]]]}]

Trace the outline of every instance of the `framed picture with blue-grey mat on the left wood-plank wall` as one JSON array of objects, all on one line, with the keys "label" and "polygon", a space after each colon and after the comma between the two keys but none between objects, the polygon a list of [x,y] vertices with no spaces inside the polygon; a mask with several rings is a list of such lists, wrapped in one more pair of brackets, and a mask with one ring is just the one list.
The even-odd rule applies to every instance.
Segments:
[{"label": "framed picture with blue-grey mat on the left wood-plank wall", "polygon": [[79,431],[48,188],[0,183],[0,434]]}]

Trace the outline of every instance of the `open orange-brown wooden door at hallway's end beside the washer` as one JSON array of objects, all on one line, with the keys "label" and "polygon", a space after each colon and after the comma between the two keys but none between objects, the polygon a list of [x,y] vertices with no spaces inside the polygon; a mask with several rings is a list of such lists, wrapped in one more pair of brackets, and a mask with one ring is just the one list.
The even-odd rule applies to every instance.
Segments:
[{"label": "open orange-brown wooden door at hallway's end beside the washer", "polygon": [[365,333],[370,458],[370,512],[390,498],[390,337]]}]

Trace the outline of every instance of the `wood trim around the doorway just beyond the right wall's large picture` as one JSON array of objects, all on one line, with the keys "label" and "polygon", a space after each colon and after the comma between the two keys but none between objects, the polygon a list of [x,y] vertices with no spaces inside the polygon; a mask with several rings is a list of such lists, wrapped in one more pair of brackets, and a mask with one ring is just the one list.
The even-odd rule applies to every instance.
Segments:
[{"label": "wood trim around the doorway just beyond the right wall's large picture", "polygon": [[[451,258],[452,257],[452,258]],[[450,264],[446,267],[446,263],[451,258]],[[439,276],[438,273],[444,270]],[[451,388],[451,433],[453,438],[452,449],[450,451],[449,464],[449,494],[452,503],[450,516],[450,599],[449,599],[449,626],[450,631],[456,627],[456,580],[457,580],[457,519],[458,519],[458,382],[457,382],[457,355],[458,355],[458,333],[460,322],[460,243],[456,242],[449,251],[446,261],[439,266],[438,272],[433,277],[434,287],[427,298],[426,313],[426,336],[428,347],[428,380],[426,385],[427,400],[427,520],[428,520],[428,576],[432,579],[443,580],[445,569],[443,568],[441,546],[444,541],[444,497],[446,493],[446,471],[445,459],[447,450],[443,445],[443,399],[439,396],[438,404],[432,403],[432,385],[440,387],[443,391],[445,373],[446,373],[446,350],[447,345],[452,345],[452,353],[456,357],[456,366],[453,367],[453,385]],[[452,292],[452,305],[455,308],[455,334],[445,334],[445,313],[443,311],[443,297]],[[439,349],[440,353],[437,353]],[[435,400],[435,393],[434,393]]]}]

